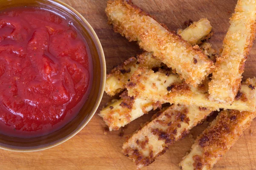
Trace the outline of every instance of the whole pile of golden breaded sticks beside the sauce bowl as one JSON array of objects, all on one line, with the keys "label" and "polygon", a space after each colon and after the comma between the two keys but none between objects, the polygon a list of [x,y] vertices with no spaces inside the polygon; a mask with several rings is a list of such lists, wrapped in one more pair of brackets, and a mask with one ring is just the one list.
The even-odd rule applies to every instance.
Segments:
[{"label": "whole pile of golden breaded sticks beside the sauce bowl", "polygon": [[[211,169],[256,116],[256,79],[241,83],[255,39],[255,0],[238,0],[220,56],[206,42],[212,26],[205,18],[176,33],[130,0],[109,0],[105,11],[114,31],[137,41],[145,52],[107,75],[105,92],[121,93],[121,99],[99,115],[111,131],[161,108],[123,144],[124,155],[138,168],[148,166],[213,111],[223,109],[180,162],[183,170]],[[165,103],[172,105],[162,108]]]}]

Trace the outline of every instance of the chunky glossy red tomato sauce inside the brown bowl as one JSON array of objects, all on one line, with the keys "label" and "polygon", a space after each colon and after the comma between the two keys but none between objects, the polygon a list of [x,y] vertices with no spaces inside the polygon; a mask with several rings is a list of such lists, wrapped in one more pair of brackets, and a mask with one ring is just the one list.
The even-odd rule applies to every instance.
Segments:
[{"label": "chunky glossy red tomato sauce inside the brown bowl", "polygon": [[70,19],[32,7],[0,12],[0,133],[60,129],[83,106],[91,79],[88,44]]}]

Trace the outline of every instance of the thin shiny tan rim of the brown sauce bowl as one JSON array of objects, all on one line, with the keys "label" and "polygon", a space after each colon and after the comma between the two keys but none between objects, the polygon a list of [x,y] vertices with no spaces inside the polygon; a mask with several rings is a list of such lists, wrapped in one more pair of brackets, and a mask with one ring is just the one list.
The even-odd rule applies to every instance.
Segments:
[{"label": "thin shiny tan rim of the brown sauce bowl", "polygon": [[[89,116],[87,117],[87,120],[82,123],[81,127],[79,127],[78,129],[74,130],[72,133],[68,134],[67,136],[65,136],[64,138],[58,139],[54,142],[51,142],[49,144],[42,144],[36,147],[8,147],[10,145],[8,144],[2,144],[0,143],[0,149],[3,150],[9,150],[9,151],[15,151],[15,152],[35,152],[35,151],[41,151],[41,150],[46,150],[55,146],[58,146],[59,144],[62,144],[64,142],[66,142],[67,140],[71,139],[73,136],[75,136],[77,133],[79,133],[86,125],[88,122],[90,122],[90,120],[92,119],[92,117],[94,116],[94,114],[96,113],[97,109],[99,108],[99,104],[102,100],[102,96],[104,94],[104,88],[105,88],[105,82],[106,82],[106,61],[105,61],[105,55],[104,55],[104,51],[102,48],[102,44],[99,40],[99,37],[97,36],[96,32],[94,31],[93,27],[90,25],[90,23],[88,23],[88,21],[78,12],[76,11],[76,9],[74,9],[73,7],[67,5],[64,2],[61,2],[60,0],[47,0],[49,2],[55,2],[55,3],[59,3],[61,6],[64,6],[68,9],[70,9],[70,11],[72,11],[73,13],[75,13],[81,20],[82,22],[88,27],[87,31],[89,31],[93,36],[91,36],[95,41],[95,45],[98,46],[99,48],[97,48],[97,53],[99,55],[99,60],[100,60],[100,67],[102,69],[102,79],[100,82],[100,91],[99,91],[99,97],[94,105],[93,110],[89,113]],[[43,147],[41,147],[43,146]]]}]

